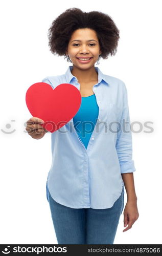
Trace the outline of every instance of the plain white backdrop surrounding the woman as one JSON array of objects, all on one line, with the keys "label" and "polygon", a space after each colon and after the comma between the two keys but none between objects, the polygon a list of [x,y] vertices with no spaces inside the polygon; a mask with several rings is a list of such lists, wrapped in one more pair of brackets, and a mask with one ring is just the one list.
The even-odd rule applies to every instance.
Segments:
[{"label": "plain white backdrop surrounding the woman", "polygon": [[[131,122],[142,123],[142,132],[132,133],[140,217],[123,233],[122,213],[114,244],[161,244],[160,2],[1,1],[1,244],[57,244],[45,190],[52,162],[51,133],[41,140],[27,134],[31,114],[25,96],[33,83],[64,74],[71,65],[50,52],[48,29],[73,7],[104,12],[119,28],[117,54],[96,67],[125,82]],[[146,121],[153,122],[153,133],[144,132],[150,131],[144,127]],[[133,128],[138,131],[139,125]],[[125,204],[126,200],[125,193]]]}]

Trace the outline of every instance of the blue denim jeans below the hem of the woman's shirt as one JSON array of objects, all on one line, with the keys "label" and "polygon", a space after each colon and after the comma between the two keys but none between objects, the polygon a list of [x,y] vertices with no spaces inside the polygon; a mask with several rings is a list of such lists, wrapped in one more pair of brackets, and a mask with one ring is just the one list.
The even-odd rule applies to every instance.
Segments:
[{"label": "blue denim jeans below the hem of the woman's shirt", "polygon": [[58,244],[113,244],[124,207],[124,186],[107,209],[70,208],[51,197],[48,185],[46,189]]}]

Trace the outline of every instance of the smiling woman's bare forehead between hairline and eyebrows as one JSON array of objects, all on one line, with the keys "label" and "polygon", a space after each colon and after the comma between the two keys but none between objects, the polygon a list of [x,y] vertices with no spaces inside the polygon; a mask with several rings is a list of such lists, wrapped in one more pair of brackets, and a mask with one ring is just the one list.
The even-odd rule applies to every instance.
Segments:
[{"label": "smiling woman's bare forehead between hairline and eyebrows", "polygon": [[92,29],[77,29],[73,32],[71,36],[71,40],[78,39],[78,40],[84,40],[84,39],[98,39],[97,38],[97,33],[95,30]]}]

